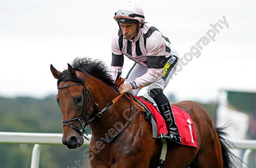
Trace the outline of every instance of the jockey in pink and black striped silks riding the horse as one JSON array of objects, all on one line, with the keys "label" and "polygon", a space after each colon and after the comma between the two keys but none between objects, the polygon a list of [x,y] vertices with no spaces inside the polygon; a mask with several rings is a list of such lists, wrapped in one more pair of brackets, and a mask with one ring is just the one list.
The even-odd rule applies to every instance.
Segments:
[{"label": "jockey in pink and black striped silks riding the horse", "polygon": [[137,95],[141,88],[148,86],[148,94],[154,99],[167,125],[168,134],[162,135],[162,138],[181,144],[171,105],[163,93],[176,70],[178,52],[157,28],[144,22],[144,12],[140,6],[132,2],[123,4],[114,19],[119,31],[112,39],[110,70],[113,79],[116,79],[117,71],[123,68],[123,55],[135,61],[118,91],[120,94],[131,92]]}]

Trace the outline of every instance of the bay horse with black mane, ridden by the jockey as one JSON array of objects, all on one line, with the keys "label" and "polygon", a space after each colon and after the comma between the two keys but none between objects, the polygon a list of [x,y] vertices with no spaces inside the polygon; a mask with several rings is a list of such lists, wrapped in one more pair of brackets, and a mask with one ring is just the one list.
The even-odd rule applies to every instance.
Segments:
[{"label": "bay horse with black mane, ridden by the jockey", "polygon": [[[101,60],[76,58],[67,70],[60,72],[52,65],[50,69],[58,79],[56,100],[62,113],[64,145],[69,149],[81,146],[84,124],[90,123],[95,138],[91,138],[88,155],[84,156],[89,156],[92,168],[156,167],[162,142],[152,138],[151,123],[143,113],[132,114],[132,105],[126,97],[111,104],[120,94]],[[223,142],[226,133],[223,128],[215,128],[201,105],[193,101],[172,105],[186,111],[193,120],[197,147],[169,144],[165,168],[235,167],[234,156]],[[133,118],[128,121],[124,111]]]}]

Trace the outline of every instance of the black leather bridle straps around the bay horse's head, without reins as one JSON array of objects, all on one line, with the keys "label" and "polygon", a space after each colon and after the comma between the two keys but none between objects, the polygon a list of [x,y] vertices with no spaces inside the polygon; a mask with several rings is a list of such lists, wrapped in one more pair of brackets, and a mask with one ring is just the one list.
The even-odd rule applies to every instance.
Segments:
[{"label": "black leather bridle straps around the bay horse's head, without reins", "polygon": [[[67,85],[67,86],[64,86],[64,87],[57,87],[57,89],[64,89],[64,88],[67,88],[67,87],[71,87],[71,86],[76,86],[76,85],[83,85],[83,98],[84,98],[84,105],[83,105],[83,113],[80,117],[75,117],[75,118],[71,118],[71,119],[68,119],[68,120],[62,120],[62,126],[69,126],[70,128],[76,130],[76,132],[80,133],[85,139],[89,140],[85,135],[84,135],[84,132],[86,133],[85,129],[87,127],[87,125],[89,125],[91,123],[91,121],[96,118],[96,117],[101,117],[102,116],[102,113],[101,113],[101,116],[100,114],[98,113],[97,115],[95,115],[91,120],[88,120],[88,118],[90,117],[90,109],[93,110],[91,108],[91,99],[93,101],[93,104],[98,106],[98,104],[94,101],[94,98],[91,94],[91,92],[89,91],[89,89],[85,86],[84,83],[76,83],[76,84],[70,84],[70,85]],[[84,109],[85,109],[85,93],[87,94],[87,99],[88,99],[88,112],[87,112],[87,116],[85,117],[84,115]],[[91,97],[91,98],[90,98]],[[83,120],[84,123],[82,124],[82,122],[80,120]],[[73,121],[79,121],[80,122],[80,125],[82,127],[82,130],[79,130],[77,129],[75,126],[73,125],[69,125],[67,124],[68,122],[73,122]],[[85,124],[85,128],[84,128],[84,124]],[[87,135],[87,133],[86,133]],[[87,135],[88,136],[88,135]]]}]

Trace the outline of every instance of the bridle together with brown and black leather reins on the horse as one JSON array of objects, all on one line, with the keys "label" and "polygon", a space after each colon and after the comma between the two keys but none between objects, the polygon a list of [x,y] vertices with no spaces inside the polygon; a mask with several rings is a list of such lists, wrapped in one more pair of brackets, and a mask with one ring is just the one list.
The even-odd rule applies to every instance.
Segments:
[{"label": "bridle together with brown and black leather reins on the horse", "polygon": [[[124,82],[124,79],[123,78],[119,78],[119,80],[116,82],[116,85],[117,87],[119,87],[121,84],[123,84]],[[91,99],[93,101],[93,104],[94,106],[98,106],[98,104],[94,101],[94,98],[91,94],[91,92],[89,91],[89,89],[85,86],[84,83],[76,83],[76,84],[70,84],[70,85],[67,85],[67,86],[64,86],[64,87],[57,87],[57,89],[64,89],[64,88],[67,88],[67,87],[72,87],[72,86],[76,86],[76,85],[83,85],[83,98],[84,98],[84,105],[83,105],[83,113],[80,117],[75,117],[75,118],[71,118],[71,119],[68,119],[68,120],[62,120],[62,126],[69,126],[70,128],[74,129],[76,132],[78,132],[80,135],[82,135],[85,139],[87,139],[89,141],[89,139],[84,135],[84,132],[86,133],[85,129],[87,128],[87,125],[89,125],[95,118],[98,118],[98,117],[101,117],[102,116],[102,113],[107,110],[111,105],[115,104],[116,101],[118,101],[123,95],[124,93],[120,94],[118,97],[116,97],[114,100],[112,100],[107,106],[105,106],[100,112],[98,112],[96,115],[94,115],[89,121],[87,121],[90,117],[90,109],[93,110],[93,108],[91,108]],[[84,111],[85,111],[85,104],[86,104],[86,101],[85,101],[85,94],[87,95],[87,99],[88,99],[88,112],[87,112],[87,116],[85,117],[84,115]],[[137,107],[144,111],[144,108],[142,106],[140,106],[137,102],[135,102],[132,98],[132,96],[130,94],[125,95],[126,98],[128,98],[130,100],[130,103],[131,103],[131,106],[133,107],[134,105],[137,105]],[[131,112],[131,117],[130,117],[130,120],[128,121],[128,123],[126,124],[126,126],[120,130],[119,133],[117,133],[115,136],[109,138],[108,142],[112,142],[113,139],[118,136],[119,134],[121,134],[126,128],[127,126],[130,124],[131,120],[132,120],[132,115],[133,115],[133,108],[131,109],[132,112]],[[84,122],[82,123],[80,120],[83,120]],[[81,125],[81,128],[82,129],[78,129],[76,128],[75,126],[73,125],[69,125],[67,124],[68,122],[73,122],[73,121],[79,121],[80,122],[80,125]],[[85,128],[84,128],[84,125],[85,125]],[[86,135],[88,136],[88,134],[86,133]],[[94,139],[97,139],[97,140],[100,140],[98,138],[95,138],[93,135],[92,137]]]}]

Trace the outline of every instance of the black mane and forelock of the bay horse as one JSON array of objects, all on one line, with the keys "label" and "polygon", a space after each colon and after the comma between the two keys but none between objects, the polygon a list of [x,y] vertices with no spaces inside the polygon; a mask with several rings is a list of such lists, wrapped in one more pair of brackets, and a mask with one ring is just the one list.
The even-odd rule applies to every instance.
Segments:
[{"label": "black mane and forelock of the bay horse", "polygon": [[[71,63],[71,66],[74,68],[74,70],[81,71],[85,74],[89,74],[101,81],[103,81],[105,84],[115,87],[114,81],[112,77],[109,74],[108,67],[105,65],[105,63],[99,59],[93,60],[88,57],[79,58],[77,57],[75,60],[73,60],[73,63]],[[58,81],[57,85],[59,86],[59,83],[61,81],[72,81],[81,83],[83,80],[79,77],[73,77],[68,73],[68,70],[62,71]]]}]

